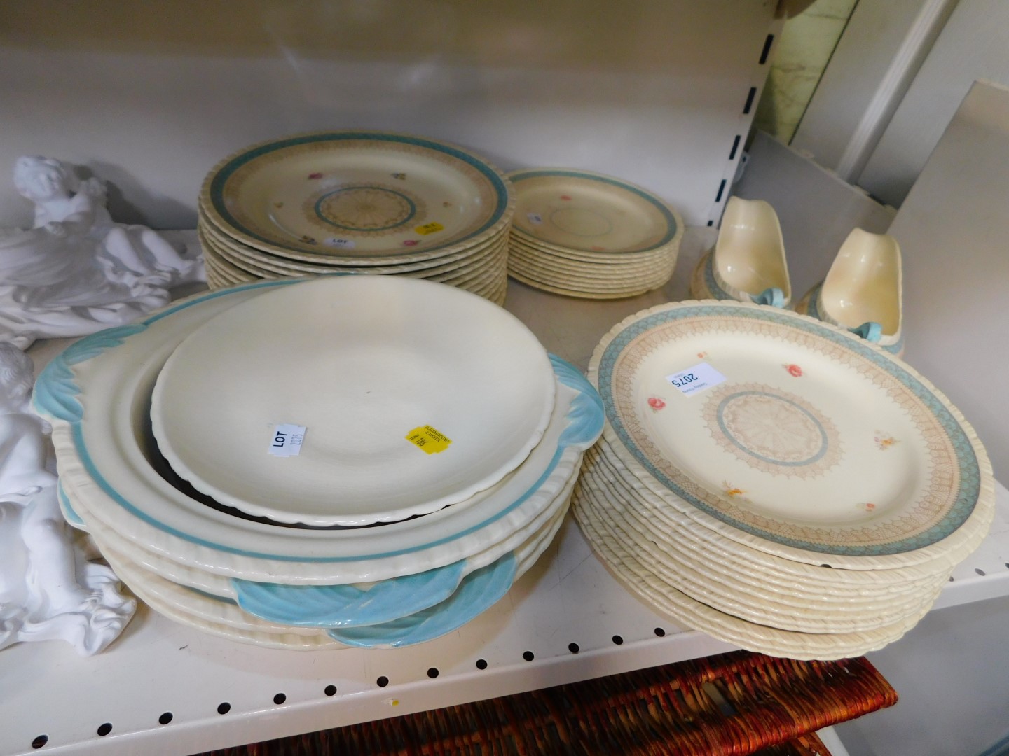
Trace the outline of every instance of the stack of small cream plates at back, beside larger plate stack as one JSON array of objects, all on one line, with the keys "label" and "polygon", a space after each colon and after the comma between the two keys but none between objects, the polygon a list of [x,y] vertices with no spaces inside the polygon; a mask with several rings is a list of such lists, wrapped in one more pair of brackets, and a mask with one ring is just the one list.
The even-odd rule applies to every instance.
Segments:
[{"label": "stack of small cream plates at back, beside larger plate stack", "polygon": [[672,276],[683,221],[655,195],[585,170],[532,168],[509,178],[516,192],[513,278],[557,294],[611,299]]}]

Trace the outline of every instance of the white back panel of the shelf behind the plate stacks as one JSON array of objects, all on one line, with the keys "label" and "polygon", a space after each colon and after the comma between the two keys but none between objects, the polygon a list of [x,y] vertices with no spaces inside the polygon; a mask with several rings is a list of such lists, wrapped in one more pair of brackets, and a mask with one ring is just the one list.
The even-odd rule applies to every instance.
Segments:
[{"label": "white back panel of the shelf behind the plate stacks", "polygon": [[[228,153],[379,128],[455,141],[504,169],[615,173],[703,225],[727,196],[715,202],[760,96],[775,5],[4,2],[0,170],[21,154],[84,163],[120,191],[121,220],[193,227],[200,182]],[[0,183],[0,223],[28,219]]]}]

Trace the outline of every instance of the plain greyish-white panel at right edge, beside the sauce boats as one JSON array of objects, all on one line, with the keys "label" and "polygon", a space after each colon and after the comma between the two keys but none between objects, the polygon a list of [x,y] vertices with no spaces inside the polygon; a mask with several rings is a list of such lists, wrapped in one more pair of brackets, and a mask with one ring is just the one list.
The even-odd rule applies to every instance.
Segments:
[{"label": "plain greyish-white panel at right edge, beside the sauce boats", "polygon": [[[1009,9],[1009,7],[1007,7]],[[976,84],[890,226],[904,258],[906,359],[1009,475],[1009,88]]]}]

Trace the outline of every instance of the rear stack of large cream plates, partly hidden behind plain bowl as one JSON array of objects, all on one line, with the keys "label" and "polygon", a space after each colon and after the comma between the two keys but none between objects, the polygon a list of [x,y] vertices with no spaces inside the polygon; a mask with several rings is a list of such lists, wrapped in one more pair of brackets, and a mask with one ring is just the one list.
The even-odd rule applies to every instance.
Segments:
[{"label": "rear stack of large cream plates, partly hidden behind plain bowl", "polygon": [[511,185],[434,139],[336,131],[246,147],[207,174],[211,288],[333,272],[427,278],[504,299]]}]

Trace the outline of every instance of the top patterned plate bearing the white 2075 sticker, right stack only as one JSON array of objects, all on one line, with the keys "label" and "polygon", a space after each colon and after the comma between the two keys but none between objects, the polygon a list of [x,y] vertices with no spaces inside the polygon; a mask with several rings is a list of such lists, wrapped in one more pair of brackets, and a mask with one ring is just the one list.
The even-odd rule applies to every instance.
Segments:
[{"label": "top patterned plate bearing the white 2075 sticker, right stack only", "polygon": [[589,367],[604,436],[698,522],[810,563],[885,569],[977,545],[991,466],[910,367],[812,319],[680,302],[618,325]]}]

